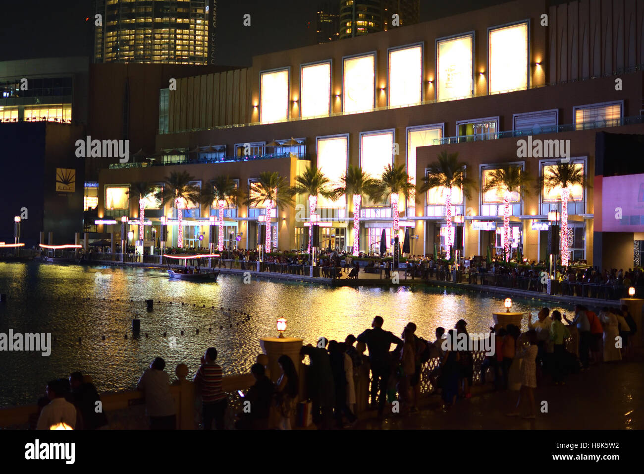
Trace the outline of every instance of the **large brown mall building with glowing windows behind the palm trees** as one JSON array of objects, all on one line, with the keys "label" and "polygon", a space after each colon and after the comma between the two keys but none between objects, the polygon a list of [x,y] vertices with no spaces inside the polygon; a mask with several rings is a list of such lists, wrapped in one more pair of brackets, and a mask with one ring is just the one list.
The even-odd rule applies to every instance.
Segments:
[{"label": "large brown mall building with glowing windows behind the palm trees", "polygon": [[[464,227],[464,255],[486,255],[490,247],[502,252],[504,190],[483,192],[489,173],[513,163],[539,177],[569,161],[590,184],[569,190],[569,248],[573,260],[592,262],[598,136],[644,133],[643,28],[644,5],[636,0],[552,6],[520,0],[258,55],[251,68],[185,77],[176,90],[159,91],[156,149],[137,163],[100,171],[97,230],[119,233],[121,216],[138,217],[132,183],[162,186],[175,171],[187,171],[198,186],[229,175],[246,193],[260,172],[277,171],[294,184],[309,164],[333,183],[349,164],[374,177],[388,164],[404,164],[420,181],[445,151],[458,153],[475,181],[469,199],[451,191],[451,214],[460,216],[452,225]],[[510,202],[512,246],[543,260],[548,215],[562,211],[562,190],[526,191]],[[400,198],[400,236],[410,230],[411,253],[446,250],[446,190],[416,198]],[[274,246],[306,248],[306,199],[296,197],[303,211],[273,210]],[[184,207],[184,246],[207,246],[209,217],[218,209]],[[153,235],[160,235],[166,216],[174,224],[168,245],[176,245],[176,212],[148,197],[149,244],[158,244]],[[225,241],[255,248],[264,213],[243,204],[226,208]],[[321,245],[350,249],[353,213],[351,197],[320,197]],[[383,230],[388,241],[393,237],[390,202],[363,202],[360,217],[362,251],[377,250]],[[118,224],[102,223],[113,221]]]}]

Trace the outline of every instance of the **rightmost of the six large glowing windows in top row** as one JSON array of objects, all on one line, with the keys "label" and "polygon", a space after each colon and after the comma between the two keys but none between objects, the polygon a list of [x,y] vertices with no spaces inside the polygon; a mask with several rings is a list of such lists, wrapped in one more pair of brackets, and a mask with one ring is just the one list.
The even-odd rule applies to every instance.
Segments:
[{"label": "rightmost of the six large glowing windows in top row", "polygon": [[489,93],[527,88],[527,22],[489,30]]}]

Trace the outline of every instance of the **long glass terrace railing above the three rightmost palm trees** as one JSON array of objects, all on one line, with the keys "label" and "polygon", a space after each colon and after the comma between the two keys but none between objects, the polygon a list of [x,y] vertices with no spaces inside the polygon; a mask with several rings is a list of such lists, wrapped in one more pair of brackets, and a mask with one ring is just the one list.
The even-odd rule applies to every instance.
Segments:
[{"label": "long glass terrace railing above the three rightmost palm trees", "polygon": [[476,135],[456,135],[454,137],[436,138],[434,139],[434,144],[445,145],[451,143],[464,143],[468,141],[493,140],[498,138],[527,137],[528,135],[540,135],[543,133],[574,132],[576,130],[592,130],[594,128],[607,128],[637,123],[644,123],[644,116],[634,115],[632,117],[620,117],[618,119],[598,120],[577,124],[569,123],[544,127],[540,126],[529,130],[506,130],[505,132],[477,133]]}]

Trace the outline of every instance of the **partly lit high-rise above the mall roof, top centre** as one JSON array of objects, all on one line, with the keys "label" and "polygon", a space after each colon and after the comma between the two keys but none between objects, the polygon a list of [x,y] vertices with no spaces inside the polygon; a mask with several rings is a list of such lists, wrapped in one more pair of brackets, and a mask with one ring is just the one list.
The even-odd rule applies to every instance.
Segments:
[{"label": "partly lit high-rise above the mall roof, top centre", "polygon": [[419,0],[341,0],[339,37],[386,31],[394,14],[399,15],[399,26],[413,25],[420,21],[420,11]]}]

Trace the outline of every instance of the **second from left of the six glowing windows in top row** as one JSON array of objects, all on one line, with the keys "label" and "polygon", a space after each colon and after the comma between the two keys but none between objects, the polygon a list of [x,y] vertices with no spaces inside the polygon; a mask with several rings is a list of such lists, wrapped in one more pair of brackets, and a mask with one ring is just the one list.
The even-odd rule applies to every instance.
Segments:
[{"label": "second from left of the six glowing windows in top row", "polygon": [[331,63],[303,66],[300,81],[301,117],[328,115],[331,104]]}]

